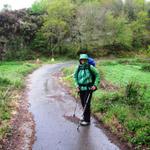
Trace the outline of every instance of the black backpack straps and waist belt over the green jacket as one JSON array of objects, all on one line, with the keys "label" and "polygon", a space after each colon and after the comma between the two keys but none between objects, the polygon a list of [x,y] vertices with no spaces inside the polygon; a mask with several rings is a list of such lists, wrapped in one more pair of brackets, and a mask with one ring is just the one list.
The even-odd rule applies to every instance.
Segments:
[{"label": "black backpack straps and waist belt over the green jacket", "polygon": [[[87,84],[87,85],[85,85],[85,84],[84,84],[84,85],[83,85],[83,84],[81,85],[81,84],[80,84],[79,86],[88,86],[88,87],[90,87],[90,86],[92,86],[92,85],[94,84],[95,79],[96,79],[96,76],[95,76],[95,74],[92,72],[90,66],[91,66],[90,64],[87,64],[87,66],[86,66],[85,69],[88,69],[88,70],[89,70],[89,72],[90,72],[90,74],[91,74],[91,76],[92,76],[92,83],[89,83],[89,84]],[[82,69],[81,69],[81,65],[78,66],[77,74],[79,73],[80,70],[82,70]]]}]

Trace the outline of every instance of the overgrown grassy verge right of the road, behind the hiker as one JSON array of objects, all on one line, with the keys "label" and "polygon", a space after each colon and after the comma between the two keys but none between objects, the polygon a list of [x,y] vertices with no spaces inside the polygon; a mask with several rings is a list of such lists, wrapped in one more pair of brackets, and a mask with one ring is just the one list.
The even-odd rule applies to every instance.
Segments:
[{"label": "overgrown grassy verge right of the road, behind the hiker", "polygon": [[[148,149],[150,144],[150,78],[141,68],[149,60],[118,59],[100,61],[97,68],[103,72],[102,80],[113,88],[101,88],[92,100],[92,112],[122,140],[134,149]],[[64,69],[64,80],[74,91],[74,66]],[[102,81],[101,81],[102,82]]]}]

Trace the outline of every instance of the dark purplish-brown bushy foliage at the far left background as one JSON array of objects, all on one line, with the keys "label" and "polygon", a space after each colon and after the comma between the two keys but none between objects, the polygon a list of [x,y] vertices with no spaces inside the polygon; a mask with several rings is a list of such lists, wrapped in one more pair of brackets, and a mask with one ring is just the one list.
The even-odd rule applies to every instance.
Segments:
[{"label": "dark purplish-brown bushy foliage at the far left background", "polygon": [[[9,56],[11,55],[8,55],[8,53],[12,54],[11,59],[18,58],[16,54],[29,48],[41,25],[41,16],[34,15],[29,10],[0,12],[0,59],[2,57],[10,59]],[[19,54],[19,57],[21,54]],[[22,57],[22,59],[29,58]]]}]

